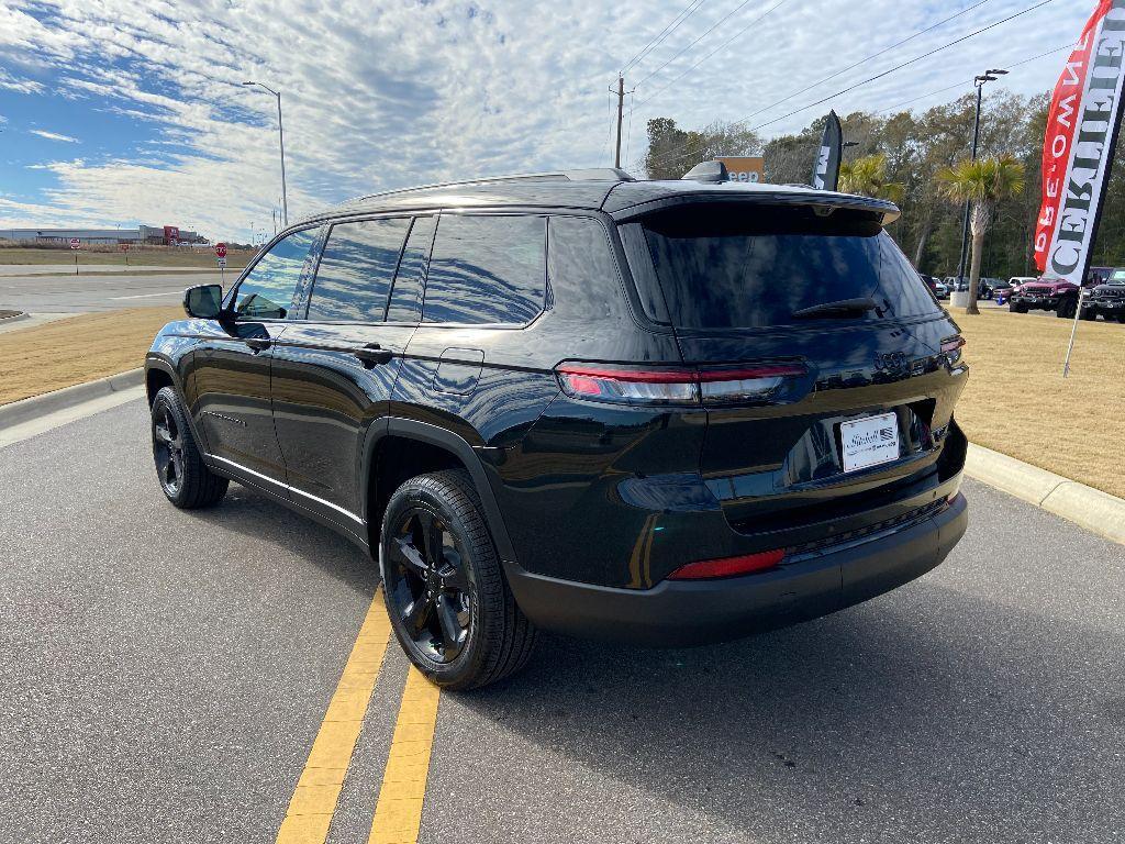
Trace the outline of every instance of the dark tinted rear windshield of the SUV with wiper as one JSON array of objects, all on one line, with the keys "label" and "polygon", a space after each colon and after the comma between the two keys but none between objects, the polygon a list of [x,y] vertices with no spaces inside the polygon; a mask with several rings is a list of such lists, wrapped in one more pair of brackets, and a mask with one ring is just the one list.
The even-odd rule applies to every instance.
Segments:
[{"label": "dark tinted rear windshield of the SUV with wiper", "polygon": [[[868,214],[709,204],[652,215],[642,225],[676,327],[756,329],[940,313]],[[799,313],[854,299],[870,299],[871,307]]]}]

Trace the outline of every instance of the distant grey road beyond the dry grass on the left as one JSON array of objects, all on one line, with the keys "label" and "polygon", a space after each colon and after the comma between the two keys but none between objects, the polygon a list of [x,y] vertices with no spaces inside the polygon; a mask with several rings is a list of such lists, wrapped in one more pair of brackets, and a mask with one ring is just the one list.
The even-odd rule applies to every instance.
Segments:
[{"label": "distant grey road beyond the dry grass on the left", "polygon": [[[123,307],[174,305],[183,288],[219,284],[217,272],[135,276],[0,276],[0,308],[28,313],[79,313]],[[237,271],[226,273],[228,282]]]}]

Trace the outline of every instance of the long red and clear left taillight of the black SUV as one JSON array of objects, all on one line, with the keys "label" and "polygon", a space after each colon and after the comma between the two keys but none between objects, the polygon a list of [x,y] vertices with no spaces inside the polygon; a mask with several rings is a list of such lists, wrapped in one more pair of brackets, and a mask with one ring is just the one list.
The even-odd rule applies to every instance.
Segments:
[{"label": "long red and clear left taillight of the black SUV", "polygon": [[700,369],[561,363],[555,371],[567,395],[624,404],[765,402],[786,378],[807,374],[807,369],[799,363]]}]

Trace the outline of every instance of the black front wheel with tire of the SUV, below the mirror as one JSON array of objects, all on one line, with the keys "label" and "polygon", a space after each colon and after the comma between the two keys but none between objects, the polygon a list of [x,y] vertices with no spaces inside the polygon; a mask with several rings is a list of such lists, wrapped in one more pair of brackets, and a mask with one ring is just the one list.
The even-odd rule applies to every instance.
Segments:
[{"label": "black front wheel with tire of the SUV, below the mirror", "polygon": [[213,506],[226,495],[230,481],[207,468],[173,387],[152,401],[152,455],[161,490],[181,510]]}]

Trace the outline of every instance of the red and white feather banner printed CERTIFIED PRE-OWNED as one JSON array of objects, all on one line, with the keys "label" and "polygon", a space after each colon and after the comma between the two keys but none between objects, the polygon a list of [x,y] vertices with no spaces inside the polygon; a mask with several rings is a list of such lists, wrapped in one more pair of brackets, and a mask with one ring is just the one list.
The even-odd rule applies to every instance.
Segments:
[{"label": "red and white feather banner printed CERTIFIED PRE-OWNED", "polygon": [[1099,0],[1047,113],[1035,263],[1082,284],[1122,117],[1125,0]]}]

